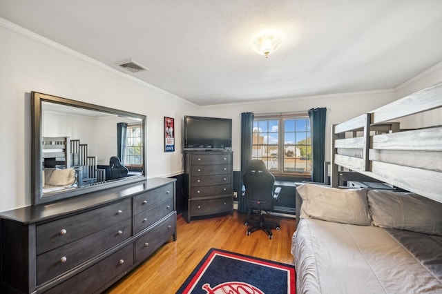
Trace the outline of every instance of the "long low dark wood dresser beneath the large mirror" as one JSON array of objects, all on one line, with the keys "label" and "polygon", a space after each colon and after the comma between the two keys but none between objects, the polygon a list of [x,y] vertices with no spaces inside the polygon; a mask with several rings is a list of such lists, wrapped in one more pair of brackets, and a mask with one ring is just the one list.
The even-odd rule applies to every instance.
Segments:
[{"label": "long low dark wood dresser beneath the large mirror", "polygon": [[177,239],[175,179],[147,179],[0,218],[0,293],[99,293]]}]

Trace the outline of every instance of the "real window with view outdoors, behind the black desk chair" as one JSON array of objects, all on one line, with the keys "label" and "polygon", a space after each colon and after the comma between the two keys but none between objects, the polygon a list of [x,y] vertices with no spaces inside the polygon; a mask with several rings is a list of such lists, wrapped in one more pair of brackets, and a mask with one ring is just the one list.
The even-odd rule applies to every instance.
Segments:
[{"label": "real window with view outdoors, behind the black desk chair", "polygon": [[253,120],[252,159],[261,159],[273,174],[311,172],[310,121],[307,113]]}]

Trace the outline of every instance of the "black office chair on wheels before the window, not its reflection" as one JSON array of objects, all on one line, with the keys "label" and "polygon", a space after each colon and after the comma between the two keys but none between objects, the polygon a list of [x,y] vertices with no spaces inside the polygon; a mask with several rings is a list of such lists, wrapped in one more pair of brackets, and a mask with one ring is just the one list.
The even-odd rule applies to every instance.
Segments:
[{"label": "black office chair on wheels before the window, not its reflection", "polygon": [[[247,220],[245,225],[249,226],[247,229],[247,235],[250,235],[253,231],[263,230],[269,235],[269,239],[272,239],[272,228],[280,230],[280,225],[276,222],[266,222],[264,214],[273,210],[281,187],[273,190],[273,184],[275,183],[275,177],[267,170],[264,162],[258,159],[252,159],[249,161],[247,170],[242,176],[242,182],[244,183],[244,197],[247,206]],[[252,210],[259,210],[260,218],[251,219],[250,214]]]}]

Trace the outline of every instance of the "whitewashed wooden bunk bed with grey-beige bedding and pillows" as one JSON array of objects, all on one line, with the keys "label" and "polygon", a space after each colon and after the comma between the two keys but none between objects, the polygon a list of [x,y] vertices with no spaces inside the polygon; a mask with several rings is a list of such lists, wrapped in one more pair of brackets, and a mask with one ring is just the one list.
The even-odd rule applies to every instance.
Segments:
[{"label": "whitewashed wooden bunk bed with grey-beige bedding and pillows", "polygon": [[332,126],[331,184],[296,187],[297,293],[442,293],[442,127],[401,128],[441,106],[442,83]]}]

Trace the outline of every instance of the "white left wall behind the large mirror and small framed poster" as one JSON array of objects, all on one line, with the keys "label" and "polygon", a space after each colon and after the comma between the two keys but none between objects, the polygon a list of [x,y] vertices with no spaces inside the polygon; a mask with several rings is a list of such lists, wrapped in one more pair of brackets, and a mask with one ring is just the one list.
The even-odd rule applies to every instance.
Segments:
[{"label": "white left wall behind the large mirror and small framed poster", "polygon": [[[30,205],[30,92],[147,117],[148,177],[182,172],[181,121],[198,107],[0,19],[0,211]],[[164,117],[175,117],[174,153],[164,153]]]}]

